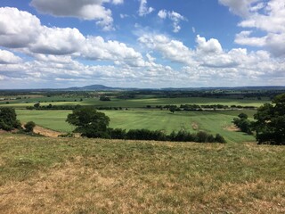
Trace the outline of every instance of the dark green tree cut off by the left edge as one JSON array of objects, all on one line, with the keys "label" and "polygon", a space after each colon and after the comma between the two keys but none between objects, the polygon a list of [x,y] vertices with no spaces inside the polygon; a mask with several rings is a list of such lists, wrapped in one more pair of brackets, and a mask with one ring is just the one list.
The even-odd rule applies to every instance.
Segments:
[{"label": "dark green tree cut off by the left edge", "polygon": [[9,107],[0,107],[0,129],[11,131],[13,128],[20,128],[16,111]]}]

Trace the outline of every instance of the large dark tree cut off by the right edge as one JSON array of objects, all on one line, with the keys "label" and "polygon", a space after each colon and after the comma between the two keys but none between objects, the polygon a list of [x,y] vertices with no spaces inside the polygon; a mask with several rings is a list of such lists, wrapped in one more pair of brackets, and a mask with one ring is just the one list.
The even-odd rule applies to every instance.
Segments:
[{"label": "large dark tree cut off by the right edge", "polygon": [[285,144],[285,94],[259,107],[254,117],[258,144]]}]

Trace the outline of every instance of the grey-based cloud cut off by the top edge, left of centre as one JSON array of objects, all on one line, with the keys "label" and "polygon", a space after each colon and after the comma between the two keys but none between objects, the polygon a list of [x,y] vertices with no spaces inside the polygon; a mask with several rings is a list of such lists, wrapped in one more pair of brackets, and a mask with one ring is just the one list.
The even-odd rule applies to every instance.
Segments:
[{"label": "grey-based cloud cut off by the top edge, left of centre", "polygon": [[32,0],[31,5],[37,11],[53,16],[77,17],[83,20],[94,20],[103,30],[113,29],[113,18],[110,9],[103,4],[123,4],[123,0]]}]

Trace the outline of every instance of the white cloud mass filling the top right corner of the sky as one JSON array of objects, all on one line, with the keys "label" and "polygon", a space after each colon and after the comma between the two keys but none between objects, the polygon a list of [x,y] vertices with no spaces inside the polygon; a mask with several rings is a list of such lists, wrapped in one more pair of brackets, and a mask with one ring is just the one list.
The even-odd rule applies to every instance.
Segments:
[{"label": "white cloud mass filling the top right corner of the sky", "polygon": [[[283,0],[219,0],[221,4],[229,6],[230,11],[240,15],[243,30],[235,37],[235,42],[240,45],[265,47],[274,56],[285,56],[285,4]],[[265,36],[251,37],[254,30],[262,30]]]}]

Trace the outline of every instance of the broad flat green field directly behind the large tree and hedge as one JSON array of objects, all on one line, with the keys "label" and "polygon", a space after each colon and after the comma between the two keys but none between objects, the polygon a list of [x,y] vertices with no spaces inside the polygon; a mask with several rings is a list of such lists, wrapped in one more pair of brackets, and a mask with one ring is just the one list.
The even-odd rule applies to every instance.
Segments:
[{"label": "broad flat green field directly behind the large tree and hedge", "polygon": [[[72,128],[65,119],[71,111],[28,111],[17,110],[18,118],[22,122],[33,120],[37,125],[61,132],[70,132]],[[225,137],[228,142],[255,141],[254,136],[232,131],[232,119],[240,112],[252,116],[255,111],[170,111],[160,110],[130,110],[130,111],[102,111],[110,117],[110,128],[147,128],[163,130],[170,134],[181,129],[190,132],[206,131],[213,135],[217,133]]]}]

